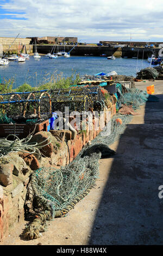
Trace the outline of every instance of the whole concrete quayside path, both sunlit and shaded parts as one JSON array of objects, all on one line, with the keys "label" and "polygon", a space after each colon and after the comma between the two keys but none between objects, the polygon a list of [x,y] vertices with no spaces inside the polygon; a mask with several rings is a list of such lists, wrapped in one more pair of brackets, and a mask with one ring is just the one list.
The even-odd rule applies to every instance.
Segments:
[{"label": "whole concrete quayside path, both sunlit and shaded parts", "polygon": [[20,223],[5,245],[161,245],[163,242],[163,81],[155,84],[159,102],[148,102],[133,117],[120,140],[111,145],[116,155],[99,160],[96,188],[65,218],[48,222],[37,240],[22,240]]}]

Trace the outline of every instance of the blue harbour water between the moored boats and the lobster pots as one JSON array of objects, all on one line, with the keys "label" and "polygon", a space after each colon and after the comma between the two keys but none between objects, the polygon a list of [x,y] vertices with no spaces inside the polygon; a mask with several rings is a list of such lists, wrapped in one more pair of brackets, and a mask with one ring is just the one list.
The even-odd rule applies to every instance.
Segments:
[{"label": "blue harbour water between the moored boats and the lobster pots", "polygon": [[61,74],[68,77],[76,71],[79,75],[95,75],[99,72],[116,71],[118,75],[136,76],[136,72],[142,68],[147,68],[150,63],[147,59],[116,58],[108,60],[106,57],[94,56],[71,56],[70,58],[58,57],[49,59],[41,56],[39,60],[30,56],[24,63],[16,61],[10,62],[7,66],[0,66],[1,81],[3,78],[9,80],[14,78],[13,88],[28,83],[30,86],[37,87],[57,77]]}]

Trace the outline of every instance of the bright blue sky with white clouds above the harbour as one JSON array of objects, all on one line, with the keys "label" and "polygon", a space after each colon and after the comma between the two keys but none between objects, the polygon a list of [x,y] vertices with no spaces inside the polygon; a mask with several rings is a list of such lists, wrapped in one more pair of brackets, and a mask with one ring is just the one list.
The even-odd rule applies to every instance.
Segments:
[{"label": "bright blue sky with white clouds above the harbour", "polygon": [[0,37],[163,41],[163,0],[0,0]]}]

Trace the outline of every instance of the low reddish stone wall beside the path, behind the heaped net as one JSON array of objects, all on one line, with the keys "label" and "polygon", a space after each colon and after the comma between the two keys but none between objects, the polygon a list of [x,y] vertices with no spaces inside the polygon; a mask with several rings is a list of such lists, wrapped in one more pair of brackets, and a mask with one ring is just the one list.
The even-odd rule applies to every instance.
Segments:
[{"label": "low reddish stone wall beside the path, behind the heaped net", "polygon": [[[113,102],[110,109],[111,117],[116,114],[116,105]],[[27,186],[30,174],[40,167],[65,166],[78,155],[80,150],[89,141],[92,141],[102,130],[93,129],[72,133],[70,130],[40,131],[32,141],[42,142],[49,137],[51,143],[40,149],[41,154],[10,153],[0,159],[0,241],[8,236],[11,229],[18,222],[24,220],[24,202],[26,200]],[[47,143],[47,142],[46,142]]]}]

